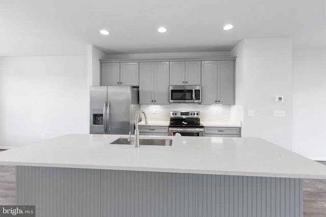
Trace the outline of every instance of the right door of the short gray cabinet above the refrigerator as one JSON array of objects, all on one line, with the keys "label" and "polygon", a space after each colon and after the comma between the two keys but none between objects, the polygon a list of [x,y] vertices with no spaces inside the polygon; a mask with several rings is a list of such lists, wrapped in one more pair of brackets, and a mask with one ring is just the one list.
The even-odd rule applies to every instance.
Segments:
[{"label": "right door of the short gray cabinet above the refrigerator", "polygon": [[120,63],[120,85],[139,86],[139,63]]}]

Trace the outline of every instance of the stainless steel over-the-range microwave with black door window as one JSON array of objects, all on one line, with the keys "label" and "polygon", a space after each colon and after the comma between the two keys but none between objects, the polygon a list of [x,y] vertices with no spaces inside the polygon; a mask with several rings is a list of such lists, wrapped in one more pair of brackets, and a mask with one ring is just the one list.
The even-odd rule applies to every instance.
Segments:
[{"label": "stainless steel over-the-range microwave with black door window", "polygon": [[170,86],[170,103],[201,103],[202,86]]}]

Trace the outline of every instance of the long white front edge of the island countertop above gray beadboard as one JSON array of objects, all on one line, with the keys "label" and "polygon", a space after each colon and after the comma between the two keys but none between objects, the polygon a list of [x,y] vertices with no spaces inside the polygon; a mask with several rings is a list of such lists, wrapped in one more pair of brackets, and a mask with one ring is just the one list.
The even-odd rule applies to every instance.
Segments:
[{"label": "long white front edge of the island countertop above gray beadboard", "polygon": [[97,169],[97,170],[123,170],[123,171],[141,171],[141,172],[188,173],[188,174],[207,174],[207,175],[235,175],[235,176],[275,177],[275,178],[326,179],[326,174],[325,175],[303,175],[303,174],[262,173],[262,172],[242,172],[242,171],[238,172],[238,171],[124,167],[124,166],[79,165],[79,164],[51,164],[51,163],[30,163],[30,162],[2,162],[2,165]]}]

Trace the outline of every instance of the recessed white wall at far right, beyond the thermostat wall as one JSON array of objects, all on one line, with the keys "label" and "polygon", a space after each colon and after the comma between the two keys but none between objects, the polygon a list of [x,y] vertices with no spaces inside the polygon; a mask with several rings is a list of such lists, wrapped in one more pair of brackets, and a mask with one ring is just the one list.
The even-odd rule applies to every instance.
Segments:
[{"label": "recessed white wall at far right, beyond the thermostat wall", "polygon": [[326,161],[326,49],[293,50],[293,151]]}]

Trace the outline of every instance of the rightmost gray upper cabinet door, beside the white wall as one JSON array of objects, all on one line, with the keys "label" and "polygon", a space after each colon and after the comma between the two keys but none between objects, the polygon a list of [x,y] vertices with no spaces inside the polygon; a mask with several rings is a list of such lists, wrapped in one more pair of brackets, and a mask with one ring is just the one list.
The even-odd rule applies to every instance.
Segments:
[{"label": "rightmost gray upper cabinet door, beside the white wall", "polygon": [[218,61],[218,104],[234,105],[234,61]]}]

